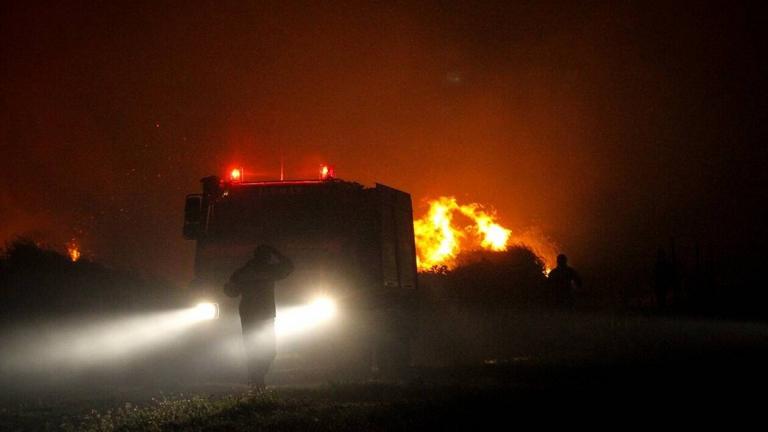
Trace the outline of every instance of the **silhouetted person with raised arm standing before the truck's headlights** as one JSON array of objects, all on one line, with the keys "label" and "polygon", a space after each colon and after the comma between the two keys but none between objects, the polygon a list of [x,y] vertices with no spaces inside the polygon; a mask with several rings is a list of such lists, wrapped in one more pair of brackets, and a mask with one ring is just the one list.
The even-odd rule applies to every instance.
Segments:
[{"label": "silhouetted person with raised arm standing before the truck's headlights", "polygon": [[264,387],[264,377],[275,359],[275,281],[286,278],[293,263],[275,248],[260,245],[253,258],[236,270],[224,293],[240,299],[240,323],[251,385]]}]

